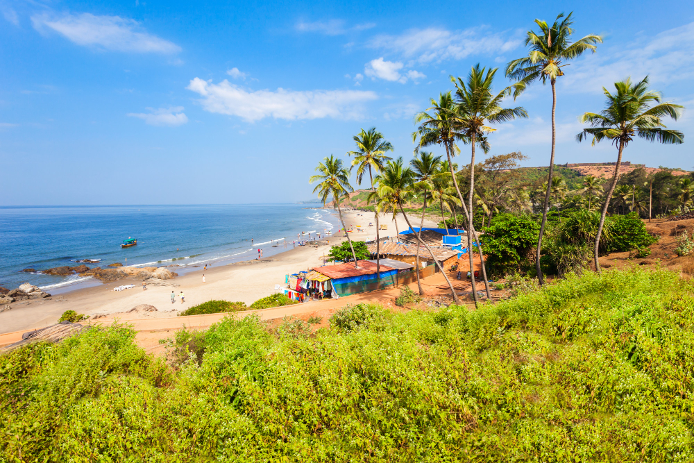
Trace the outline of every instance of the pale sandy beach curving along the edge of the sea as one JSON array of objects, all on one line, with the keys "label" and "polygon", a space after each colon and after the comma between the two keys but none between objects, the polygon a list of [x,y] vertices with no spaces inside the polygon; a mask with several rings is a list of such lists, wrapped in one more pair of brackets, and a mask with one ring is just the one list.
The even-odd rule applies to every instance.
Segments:
[{"label": "pale sandy beach curving along the edge of the sea", "polygon": [[[375,238],[373,212],[343,212],[343,218],[348,229],[356,230],[356,226],[362,226],[362,233],[356,231],[350,233],[350,238],[356,241]],[[408,215],[408,218],[413,226],[419,225],[421,217]],[[369,226],[369,222],[374,225]],[[381,237],[396,235],[396,224],[391,214],[380,217],[380,223],[388,226],[387,230],[381,230]],[[425,226],[435,226],[435,224],[433,221],[425,220]],[[402,214],[398,214],[397,227],[400,231],[408,228]],[[336,233],[336,235],[342,236],[330,237],[330,244],[346,241],[343,233]],[[176,317],[178,312],[213,299],[251,304],[259,298],[277,292],[276,285],[283,287],[287,273],[296,273],[322,265],[323,257],[330,251],[330,246],[325,245],[296,246],[294,249],[291,248],[291,244],[289,246],[287,251],[260,261],[226,264],[210,267],[205,271],[201,267],[174,280],[167,280],[167,285],[149,285],[146,291],[142,289],[141,280],[124,279],[95,287],[76,289],[48,299],[18,301],[10,305],[10,310],[0,312],[0,334],[44,328],[56,323],[65,310],[75,310],[88,316],[108,314],[107,319],[128,320]],[[203,273],[205,283],[202,279]],[[113,291],[113,288],[121,285],[135,285],[135,287],[120,292]],[[174,291],[176,295],[183,291],[185,303],[181,303],[180,298],[176,298],[176,302],[172,304],[171,291]],[[144,314],[126,313],[140,304],[153,305],[158,311]]]}]

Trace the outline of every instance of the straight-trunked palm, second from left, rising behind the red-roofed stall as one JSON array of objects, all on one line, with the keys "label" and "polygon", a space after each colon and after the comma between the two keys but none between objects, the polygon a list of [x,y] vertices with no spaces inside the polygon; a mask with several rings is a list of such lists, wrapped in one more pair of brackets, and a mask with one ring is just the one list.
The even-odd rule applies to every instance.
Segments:
[{"label": "straight-trunked palm, second from left, rising behind the red-roofed stall", "polygon": [[[369,169],[369,180],[371,180],[371,192],[373,192],[373,173],[372,168],[377,173],[383,169],[384,162],[391,160],[384,153],[393,151],[393,145],[390,142],[383,140],[383,134],[376,131],[375,127],[369,128],[369,131],[359,132],[353,137],[357,144],[357,151],[348,151],[347,155],[353,155],[352,167],[350,171],[357,167],[357,183],[362,184],[362,178],[366,169]],[[375,212],[376,217],[376,276],[381,278],[381,262],[378,257],[380,254],[380,236],[378,234],[378,212]]]}]

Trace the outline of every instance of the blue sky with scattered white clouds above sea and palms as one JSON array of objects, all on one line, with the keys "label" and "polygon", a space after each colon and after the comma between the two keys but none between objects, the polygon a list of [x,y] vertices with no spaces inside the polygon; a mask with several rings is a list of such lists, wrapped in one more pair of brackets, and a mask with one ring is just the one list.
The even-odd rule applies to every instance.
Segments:
[{"label": "blue sky with scattered white clouds above sea and palms", "polygon": [[[308,199],[316,163],[345,158],[360,128],[411,158],[412,118],[450,90],[448,76],[480,62],[508,85],[503,67],[525,54],[533,20],[562,11],[574,37],[604,43],[557,85],[557,163],[616,158],[574,140],[616,80],[650,74],[666,100],[694,107],[687,1],[0,0],[0,205]],[[550,87],[507,105],[530,119],[497,126],[490,154],[547,165]],[[691,111],[667,124],[684,145],[635,140],[624,159],[694,169]]]}]

